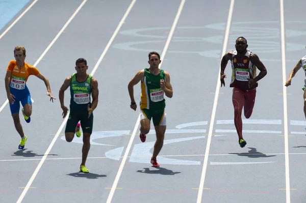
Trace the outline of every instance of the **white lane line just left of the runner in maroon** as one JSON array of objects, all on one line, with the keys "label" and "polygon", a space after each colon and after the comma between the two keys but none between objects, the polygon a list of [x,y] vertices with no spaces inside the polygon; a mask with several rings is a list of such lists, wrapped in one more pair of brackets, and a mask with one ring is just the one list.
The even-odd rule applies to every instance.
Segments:
[{"label": "white lane line just left of the runner in maroon", "polygon": [[[228,36],[230,35],[230,28],[231,28],[231,22],[232,22],[232,16],[233,16],[234,3],[235,3],[235,0],[231,0],[230,9],[228,11],[227,24],[226,24],[226,28],[225,28],[225,36],[224,36],[224,43],[223,43],[223,50],[222,50],[222,53],[221,53],[221,58],[226,53]],[[212,117],[211,117],[210,126],[209,126],[208,139],[207,139],[207,144],[206,144],[204,163],[203,163],[199,188],[203,188],[204,181],[205,181],[205,176],[206,176],[208,156],[209,156],[210,144],[211,144],[211,140],[212,140],[213,127],[214,127],[214,122],[215,122],[215,115],[216,115],[216,109],[217,109],[217,103],[218,103],[218,97],[219,97],[219,91],[220,91],[220,84],[221,84],[220,73],[221,73],[221,70],[219,68],[218,79],[217,79],[217,87],[216,87],[216,93],[215,93],[215,100],[214,100],[214,105],[213,105],[213,112],[212,112]],[[201,202],[202,193],[203,193],[203,190],[198,190],[198,196],[197,196],[197,201],[196,201],[197,203]]]}]

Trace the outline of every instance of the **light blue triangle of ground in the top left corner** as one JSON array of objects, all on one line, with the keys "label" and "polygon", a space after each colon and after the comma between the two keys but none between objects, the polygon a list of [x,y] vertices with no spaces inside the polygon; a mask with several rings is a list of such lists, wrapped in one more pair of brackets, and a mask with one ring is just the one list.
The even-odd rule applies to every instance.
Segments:
[{"label": "light blue triangle of ground in the top left corner", "polygon": [[30,0],[0,0],[0,30],[29,2]]}]

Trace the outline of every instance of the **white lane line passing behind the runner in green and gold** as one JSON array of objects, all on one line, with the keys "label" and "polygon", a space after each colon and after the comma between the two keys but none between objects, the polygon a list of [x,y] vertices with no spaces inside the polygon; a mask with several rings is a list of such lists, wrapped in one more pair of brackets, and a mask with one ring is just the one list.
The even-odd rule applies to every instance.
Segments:
[{"label": "white lane line passing behind the runner in green and gold", "polygon": [[[170,29],[170,32],[169,32],[168,39],[167,39],[167,41],[166,41],[165,47],[164,47],[164,49],[163,49],[163,52],[162,52],[162,55],[161,55],[161,61],[162,61],[162,62],[160,63],[159,68],[161,67],[161,65],[162,65],[162,63],[163,63],[163,59],[164,59],[164,57],[165,57],[165,54],[166,54],[167,49],[168,49],[168,47],[169,47],[169,44],[170,44],[170,42],[171,42],[171,39],[172,39],[174,30],[175,30],[176,24],[177,24],[177,22],[179,21],[179,18],[180,18],[180,15],[181,15],[181,13],[182,13],[184,4],[185,4],[185,0],[182,0],[182,1],[181,1],[181,4],[180,4],[180,7],[179,7],[179,9],[177,10],[176,16],[175,16],[175,18],[174,18],[172,27],[171,27],[171,29]],[[133,134],[132,134],[132,136],[131,136],[131,138],[130,138],[129,144],[127,144],[127,147],[126,147],[126,150],[125,150],[123,159],[122,159],[121,164],[120,164],[120,167],[119,167],[119,169],[118,169],[118,172],[117,172],[116,178],[115,178],[115,180],[114,180],[113,186],[112,186],[112,188],[111,188],[110,194],[109,194],[109,196],[108,196],[108,198],[107,198],[107,201],[106,201],[107,203],[110,203],[110,202],[112,201],[112,198],[113,198],[113,196],[114,196],[115,189],[116,189],[116,187],[117,187],[119,178],[120,178],[120,176],[121,176],[121,173],[122,173],[122,170],[123,170],[125,161],[126,161],[126,159],[127,159],[127,155],[129,154],[129,152],[130,152],[130,150],[131,150],[132,143],[133,143],[133,140],[134,140],[136,131],[137,131],[138,127],[139,127],[139,123],[140,123],[140,113],[139,113],[139,115],[138,115],[138,119],[137,119],[137,121],[136,121],[134,130],[133,130]]]}]

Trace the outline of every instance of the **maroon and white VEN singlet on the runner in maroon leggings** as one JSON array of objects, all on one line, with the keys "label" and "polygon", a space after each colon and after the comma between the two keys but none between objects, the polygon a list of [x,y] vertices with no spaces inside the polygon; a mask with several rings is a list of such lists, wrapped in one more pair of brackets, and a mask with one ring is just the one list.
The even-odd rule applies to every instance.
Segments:
[{"label": "maroon and white VEN singlet on the runner in maroon leggings", "polygon": [[247,49],[244,57],[240,58],[237,55],[237,51],[233,51],[232,57],[232,79],[231,88],[238,88],[240,90],[250,90],[258,86],[258,83],[248,87],[249,78],[256,77],[256,66],[250,61],[249,56],[251,51]]}]

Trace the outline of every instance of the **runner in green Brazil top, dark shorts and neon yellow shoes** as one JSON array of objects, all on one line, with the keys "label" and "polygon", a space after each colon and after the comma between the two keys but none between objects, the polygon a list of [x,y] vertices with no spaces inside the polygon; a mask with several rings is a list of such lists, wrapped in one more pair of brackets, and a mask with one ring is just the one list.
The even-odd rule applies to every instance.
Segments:
[{"label": "runner in green Brazil top, dark shorts and neon yellow shoes", "polygon": [[[80,170],[82,172],[89,172],[85,167],[85,162],[90,149],[90,135],[93,127],[93,110],[98,104],[98,82],[91,75],[86,73],[88,69],[87,61],[83,58],[75,62],[75,70],[67,77],[61,86],[59,98],[61,107],[63,109],[63,118],[66,117],[68,108],[64,105],[64,92],[70,87],[70,112],[65,128],[66,141],[71,142],[75,129],[78,128],[78,122],[81,121],[83,130],[83,149],[82,149],[82,163]],[[92,102],[91,98],[92,96]],[[81,136],[81,133],[78,135]]]}]

